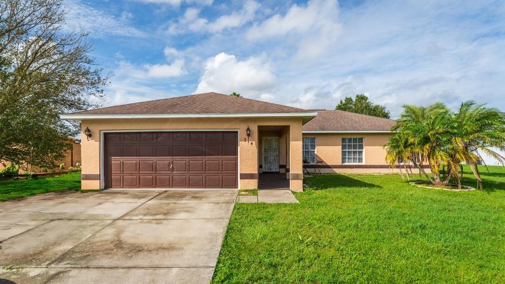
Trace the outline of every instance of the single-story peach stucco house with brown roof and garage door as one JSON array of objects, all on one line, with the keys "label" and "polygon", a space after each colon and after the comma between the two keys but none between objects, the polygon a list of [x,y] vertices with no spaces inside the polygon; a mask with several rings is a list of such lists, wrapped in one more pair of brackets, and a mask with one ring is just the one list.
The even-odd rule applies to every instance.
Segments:
[{"label": "single-story peach stucco house with brown roof and garage door", "polygon": [[81,122],[83,189],[251,189],[261,174],[278,172],[301,191],[311,167],[394,170],[383,145],[395,121],[343,111],[210,92],[61,117]]}]

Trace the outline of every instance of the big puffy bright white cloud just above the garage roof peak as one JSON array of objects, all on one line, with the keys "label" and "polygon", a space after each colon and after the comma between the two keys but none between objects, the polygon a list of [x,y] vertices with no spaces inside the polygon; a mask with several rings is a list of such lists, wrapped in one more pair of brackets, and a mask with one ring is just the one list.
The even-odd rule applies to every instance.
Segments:
[{"label": "big puffy bright white cloud just above the garage roof peak", "polygon": [[277,78],[263,57],[237,61],[235,56],[220,53],[207,60],[205,72],[195,93],[216,91],[239,92],[247,97],[258,97],[272,91]]}]

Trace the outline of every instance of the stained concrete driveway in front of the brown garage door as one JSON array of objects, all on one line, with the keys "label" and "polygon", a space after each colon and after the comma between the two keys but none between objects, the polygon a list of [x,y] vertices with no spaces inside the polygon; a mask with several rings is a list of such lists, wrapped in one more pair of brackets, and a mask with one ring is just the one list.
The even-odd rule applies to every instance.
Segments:
[{"label": "stained concrete driveway in front of the brown garage door", "polygon": [[0,203],[0,283],[209,283],[236,195],[109,190]]}]

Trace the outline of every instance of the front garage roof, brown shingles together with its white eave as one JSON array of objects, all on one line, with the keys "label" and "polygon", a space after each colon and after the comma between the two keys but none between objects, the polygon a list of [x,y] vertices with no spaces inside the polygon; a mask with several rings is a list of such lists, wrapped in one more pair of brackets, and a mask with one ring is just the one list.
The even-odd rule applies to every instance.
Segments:
[{"label": "front garage roof, brown shingles together with its white eave", "polygon": [[64,119],[93,119],[262,115],[314,117],[316,113],[304,109],[233,97],[228,94],[208,92],[74,112],[61,117]]}]

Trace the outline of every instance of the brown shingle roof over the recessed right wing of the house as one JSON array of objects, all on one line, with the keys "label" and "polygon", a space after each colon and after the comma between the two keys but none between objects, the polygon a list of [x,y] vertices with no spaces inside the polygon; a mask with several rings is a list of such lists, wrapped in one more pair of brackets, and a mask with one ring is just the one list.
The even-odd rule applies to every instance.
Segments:
[{"label": "brown shingle roof over the recessed right wing of the house", "polygon": [[303,126],[307,133],[390,132],[396,120],[339,110],[317,110],[315,118]]}]

